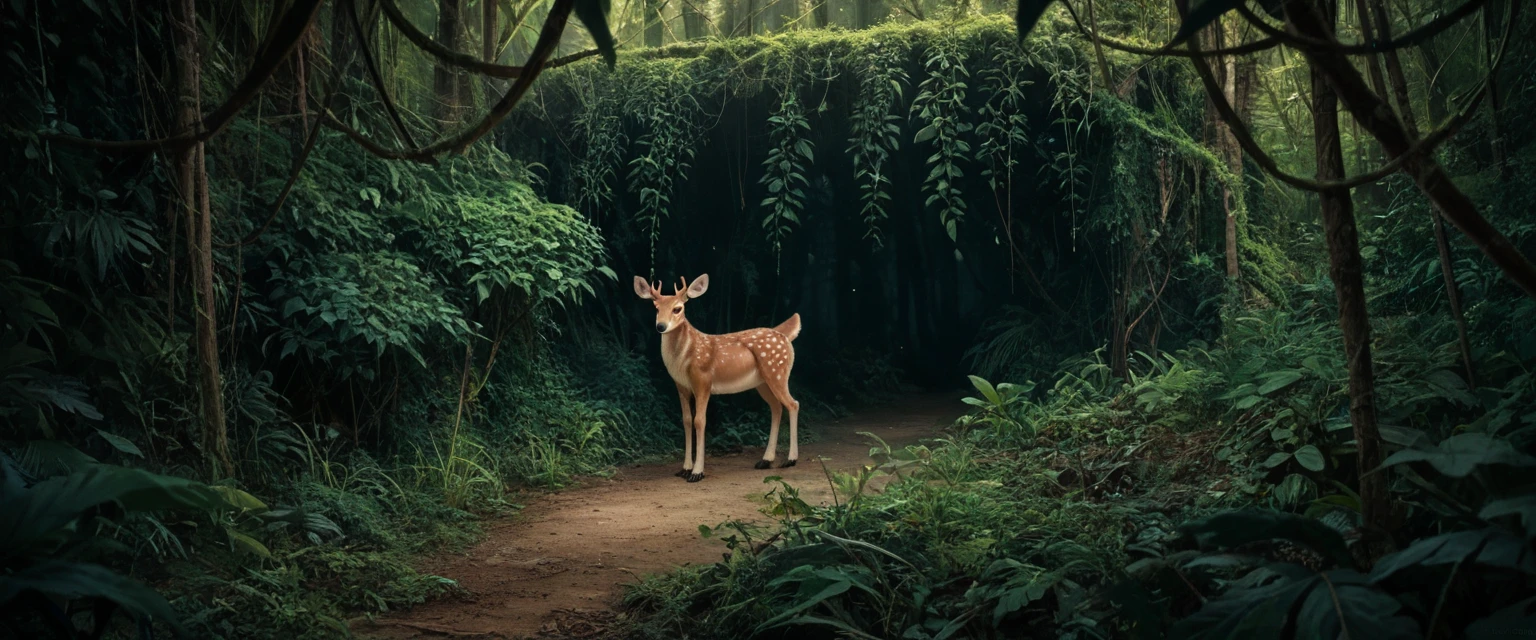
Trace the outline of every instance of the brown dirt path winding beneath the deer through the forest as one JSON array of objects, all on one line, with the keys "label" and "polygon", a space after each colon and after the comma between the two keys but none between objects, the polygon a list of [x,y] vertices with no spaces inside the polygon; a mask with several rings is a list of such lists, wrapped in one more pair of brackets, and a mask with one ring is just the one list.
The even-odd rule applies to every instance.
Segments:
[{"label": "brown dirt path winding beneath the deer through the forest", "polygon": [[[826,503],[831,493],[819,459],[833,470],[856,470],[869,462],[869,440],[859,431],[912,444],[935,434],[962,407],[958,396],[911,396],[820,425],[820,440],[802,445],[800,464],[791,468],[754,470],[762,457],[759,448],[710,457],[708,477],[699,483],[673,476],[679,464],[665,464],[624,467],[613,479],[548,494],[519,516],[492,525],[487,539],[467,554],[432,559],[422,566],[459,580],[468,599],[362,622],[353,631],[376,638],[581,637],[582,620],[607,617],[622,585],[639,576],[719,562],[725,546],[700,537],[699,525],[765,520],[759,511],[760,496],[768,491],[765,476],[783,476],[806,502]],[[765,439],[766,431],[763,425]],[[782,439],[788,440],[788,433]],[[680,462],[682,454],[677,457]]]}]

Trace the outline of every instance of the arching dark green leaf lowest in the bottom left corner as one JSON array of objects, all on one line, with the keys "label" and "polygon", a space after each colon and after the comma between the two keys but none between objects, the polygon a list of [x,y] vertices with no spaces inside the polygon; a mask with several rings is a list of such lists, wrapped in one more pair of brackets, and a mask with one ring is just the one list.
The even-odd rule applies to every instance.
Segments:
[{"label": "arching dark green leaf lowest in the bottom left corner", "polygon": [[0,576],[0,605],[26,591],[66,600],[111,600],[138,619],[158,619],[175,628],[177,634],[184,634],[170,603],[155,589],[100,565],[48,560],[9,576]]}]

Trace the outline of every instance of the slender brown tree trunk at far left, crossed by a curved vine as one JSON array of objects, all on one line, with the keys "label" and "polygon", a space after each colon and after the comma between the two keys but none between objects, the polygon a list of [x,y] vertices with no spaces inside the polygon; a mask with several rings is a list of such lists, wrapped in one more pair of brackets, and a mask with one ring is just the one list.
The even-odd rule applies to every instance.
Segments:
[{"label": "slender brown tree trunk at far left, crossed by a curved vine", "polygon": [[[198,127],[201,120],[201,58],[198,46],[197,0],[181,0],[181,17],[175,25],[177,83],[175,130]],[[172,152],[177,190],[181,198],[181,215],[187,227],[187,270],[192,279],[194,338],[197,344],[197,384],[203,419],[201,445],[209,457],[210,476],[229,477],[235,465],[229,460],[229,434],[224,424],[224,391],[218,367],[218,315],[214,308],[214,235],[212,209],[207,195],[207,164],[203,158],[203,143],[178,147]]]}]

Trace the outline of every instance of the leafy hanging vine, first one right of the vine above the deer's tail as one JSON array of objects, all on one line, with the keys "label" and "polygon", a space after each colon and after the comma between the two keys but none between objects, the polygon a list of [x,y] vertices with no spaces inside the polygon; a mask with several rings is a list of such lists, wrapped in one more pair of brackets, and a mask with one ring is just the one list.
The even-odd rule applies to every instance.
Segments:
[{"label": "leafy hanging vine, first one right of the vine above the deer's tail", "polygon": [[902,100],[906,72],[902,69],[902,51],[876,41],[863,57],[859,71],[859,98],[849,121],[852,137],[848,138],[848,153],[852,153],[854,181],[859,183],[859,200],[863,203],[859,215],[865,221],[865,238],[876,249],[885,246],[880,223],[886,218],[886,203],[891,176],[886,173],[891,155],[900,149],[902,118],[892,114]]}]

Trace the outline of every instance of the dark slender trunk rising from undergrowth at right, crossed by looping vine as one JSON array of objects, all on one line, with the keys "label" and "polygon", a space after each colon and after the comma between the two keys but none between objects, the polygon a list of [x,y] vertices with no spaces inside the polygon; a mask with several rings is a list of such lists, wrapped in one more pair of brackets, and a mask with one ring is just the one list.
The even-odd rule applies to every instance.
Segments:
[{"label": "dark slender trunk rising from undergrowth at right, crossed by looping vine", "polygon": [[[1315,6],[1321,6],[1318,2]],[[1322,26],[1319,21],[1318,26]],[[1313,37],[1332,37],[1332,29]],[[1316,146],[1318,180],[1344,178],[1344,152],[1339,143],[1338,94],[1316,63],[1312,66],[1312,104],[1316,114],[1312,140]],[[1355,229],[1355,204],[1346,189],[1318,193],[1322,229],[1329,249],[1329,278],[1339,305],[1344,333],[1344,362],[1349,370],[1349,413],[1355,425],[1359,503],[1367,529],[1390,526],[1392,502],[1387,476],[1372,473],[1381,467],[1381,433],[1376,428],[1376,390],[1370,358],[1370,318],[1366,308],[1366,278]],[[1375,553],[1373,557],[1378,557]]]}]

